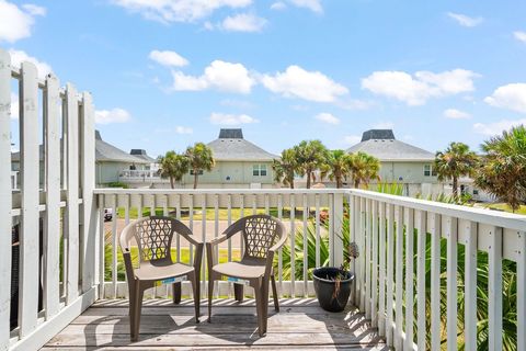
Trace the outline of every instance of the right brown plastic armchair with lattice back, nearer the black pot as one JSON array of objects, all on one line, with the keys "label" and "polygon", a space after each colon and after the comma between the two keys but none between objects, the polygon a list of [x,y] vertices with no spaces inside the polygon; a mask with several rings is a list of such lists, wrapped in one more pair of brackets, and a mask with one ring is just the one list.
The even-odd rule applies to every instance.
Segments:
[{"label": "right brown plastic armchair with lattice back, nearer the black pot", "polygon": [[[243,236],[243,258],[239,262],[217,264],[217,260],[213,258],[215,256],[213,247],[224,242],[237,233],[241,233]],[[235,281],[235,297],[239,302],[243,299],[244,284],[254,288],[260,337],[266,333],[268,280],[272,281],[274,308],[276,312],[279,310],[276,279],[273,270],[274,253],[285,244],[286,239],[287,235],[282,222],[267,215],[253,215],[233,223],[225,230],[222,237],[206,242],[208,261],[208,321],[211,321],[214,281],[226,276]],[[236,280],[238,281],[236,282]]]}]

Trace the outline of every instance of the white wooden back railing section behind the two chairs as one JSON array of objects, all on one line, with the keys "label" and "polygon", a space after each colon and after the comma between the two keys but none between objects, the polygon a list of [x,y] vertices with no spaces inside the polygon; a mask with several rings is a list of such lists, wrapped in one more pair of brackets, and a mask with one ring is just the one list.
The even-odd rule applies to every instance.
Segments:
[{"label": "white wooden back railing section behind the two chairs", "polygon": [[[324,227],[320,223],[320,212],[323,210],[329,211],[330,224],[328,227],[330,246],[339,249],[330,250],[330,262],[339,265],[343,261],[342,238],[336,233],[341,233],[342,218],[343,218],[343,197],[344,191],[336,190],[127,190],[127,189],[98,189],[95,193],[99,195],[98,204],[99,211],[102,213],[104,208],[113,210],[113,220],[111,224],[104,224],[102,220],[101,231],[106,233],[105,238],[101,238],[101,250],[104,246],[111,246],[111,263],[103,262],[104,257],[101,256],[101,262],[99,267],[101,270],[104,265],[111,265],[112,281],[100,282],[104,290],[101,290],[101,297],[123,297],[127,295],[126,282],[124,276],[118,280],[117,272],[117,237],[121,228],[128,224],[130,220],[130,213],[138,214],[140,217],[142,211],[147,208],[147,213],[153,213],[156,208],[162,212],[164,215],[172,213],[176,218],[183,219],[188,225],[190,229],[198,230],[195,235],[198,235],[202,239],[217,237],[221,234],[226,226],[233,223],[233,220],[254,213],[271,213],[271,208],[275,210],[273,213],[276,217],[283,219],[290,233],[296,233],[297,229],[307,231],[310,222],[313,222],[313,228],[317,236],[317,258],[316,264],[320,265],[320,235],[323,235]],[[209,214],[203,208],[209,208]],[[305,211],[308,210],[308,211]],[[124,223],[118,223],[115,214],[121,213],[124,215]],[[221,214],[222,213],[222,214]],[[298,218],[296,214],[301,214]],[[194,219],[199,216],[199,219]],[[222,220],[220,220],[222,216]],[[102,216],[99,216],[102,218]],[[296,218],[295,220],[291,220]],[[196,229],[196,226],[199,226]],[[106,229],[104,229],[106,228]],[[281,296],[308,296],[313,294],[312,282],[309,281],[308,274],[309,267],[307,259],[307,236],[304,236],[304,269],[301,274],[295,271],[296,258],[291,256],[291,272],[290,280],[284,280],[283,274],[283,257],[282,252],[278,254],[278,291]],[[175,254],[176,259],[181,259],[181,249],[188,250],[190,261],[193,258],[193,251],[190,244],[181,242],[179,236],[175,239]],[[240,256],[243,250],[243,242],[238,237],[228,241],[227,251],[228,260],[232,260],[236,256]],[[295,246],[298,244],[295,241],[295,236],[290,236],[289,245],[294,252]],[[296,280],[296,275],[301,275],[300,280]],[[103,278],[104,274],[101,271],[99,276]],[[206,281],[203,275],[203,284],[206,285]],[[168,297],[171,295],[170,286],[163,286],[161,288],[153,288],[146,292],[148,296]],[[205,292],[206,290],[203,288]],[[216,293],[220,296],[231,295],[233,290],[231,283],[219,282],[219,288]],[[190,283],[183,284],[183,294],[190,295]],[[251,290],[248,287],[248,294],[251,295]]]}]

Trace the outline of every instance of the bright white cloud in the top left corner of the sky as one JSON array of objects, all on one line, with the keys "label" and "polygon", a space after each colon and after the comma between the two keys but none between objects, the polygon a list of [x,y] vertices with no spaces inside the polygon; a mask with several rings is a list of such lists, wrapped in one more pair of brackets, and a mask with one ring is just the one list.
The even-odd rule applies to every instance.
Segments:
[{"label": "bright white cloud in the top left corner of the sky", "polygon": [[46,10],[35,4],[24,4],[22,9],[5,0],[0,0],[0,42],[14,43],[31,36],[36,15],[45,15]]}]

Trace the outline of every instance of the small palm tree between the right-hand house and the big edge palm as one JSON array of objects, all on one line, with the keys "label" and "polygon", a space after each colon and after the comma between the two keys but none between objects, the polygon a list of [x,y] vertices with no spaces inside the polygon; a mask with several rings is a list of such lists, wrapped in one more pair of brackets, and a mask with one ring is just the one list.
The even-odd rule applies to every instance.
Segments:
[{"label": "small palm tree between the right-hand house and the big edge palm", "polygon": [[453,180],[453,197],[458,200],[458,179],[472,177],[478,157],[464,143],[451,143],[444,151],[437,151],[435,156],[435,170],[438,180]]}]

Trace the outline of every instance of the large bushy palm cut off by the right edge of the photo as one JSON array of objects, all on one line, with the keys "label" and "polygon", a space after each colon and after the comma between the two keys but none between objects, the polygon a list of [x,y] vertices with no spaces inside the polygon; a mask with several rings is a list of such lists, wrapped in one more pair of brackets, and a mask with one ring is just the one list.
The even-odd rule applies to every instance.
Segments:
[{"label": "large bushy palm cut off by the right edge of the photo", "polygon": [[504,131],[481,146],[485,155],[474,183],[505,201],[513,212],[526,202],[526,128]]}]

